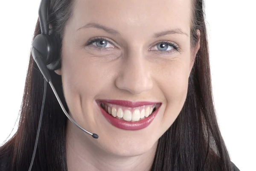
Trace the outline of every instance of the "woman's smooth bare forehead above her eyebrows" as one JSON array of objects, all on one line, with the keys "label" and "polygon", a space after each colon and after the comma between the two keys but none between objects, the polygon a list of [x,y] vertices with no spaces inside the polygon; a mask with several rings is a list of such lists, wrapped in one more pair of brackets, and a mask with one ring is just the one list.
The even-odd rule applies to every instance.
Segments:
[{"label": "woman's smooth bare forehead above her eyebrows", "polygon": [[97,22],[124,34],[176,28],[189,34],[190,14],[191,0],[75,0],[70,22],[75,30]]}]

